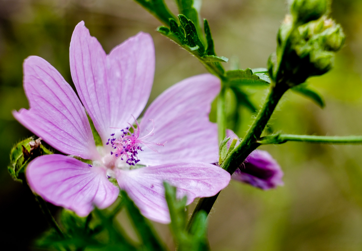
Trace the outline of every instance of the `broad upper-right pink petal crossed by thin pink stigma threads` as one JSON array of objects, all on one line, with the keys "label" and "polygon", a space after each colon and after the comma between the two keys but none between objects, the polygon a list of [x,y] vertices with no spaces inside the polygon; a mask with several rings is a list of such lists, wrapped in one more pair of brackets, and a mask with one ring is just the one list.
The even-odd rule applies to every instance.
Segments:
[{"label": "broad upper-right pink petal crossed by thin pink stigma threads", "polygon": [[[153,128],[145,140],[167,143],[142,146],[141,164],[160,165],[175,162],[215,163],[218,159],[217,126],[209,121],[211,102],[220,91],[220,80],[211,74],[184,79],[164,91],[145,112],[141,136]],[[156,152],[156,151],[157,152]]]}]

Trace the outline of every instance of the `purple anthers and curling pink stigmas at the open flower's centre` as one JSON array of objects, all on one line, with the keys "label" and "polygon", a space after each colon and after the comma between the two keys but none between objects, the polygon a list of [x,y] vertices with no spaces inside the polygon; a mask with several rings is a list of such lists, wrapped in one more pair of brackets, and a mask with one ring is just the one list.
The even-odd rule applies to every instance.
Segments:
[{"label": "purple anthers and curling pink stigmas at the open flower's centre", "polygon": [[[153,120],[152,120],[153,122]],[[129,124],[130,126],[127,126],[126,128],[121,129],[121,136],[117,139],[114,138],[114,133],[111,134],[112,138],[108,139],[108,142],[106,145],[110,145],[113,150],[110,152],[111,155],[114,155],[115,157],[121,158],[121,160],[126,160],[126,163],[129,165],[135,165],[140,160],[137,157],[138,151],[143,151],[140,144],[144,144],[148,147],[150,147],[150,144],[155,144],[157,146],[164,146],[165,143],[153,143],[149,142],[147,140],[144,140],[145,138],[151,137],[154,133],[152,133],[153,129],[155,128],[155,124],[153,123],[153,128],[150,133],[148,133],[146,136],[140,138],[140,126],[135,119],[136,128]],[[132,131],[131,131],[132,129]],[[150,147],[153,151],[156,151],[152,147]]]}]

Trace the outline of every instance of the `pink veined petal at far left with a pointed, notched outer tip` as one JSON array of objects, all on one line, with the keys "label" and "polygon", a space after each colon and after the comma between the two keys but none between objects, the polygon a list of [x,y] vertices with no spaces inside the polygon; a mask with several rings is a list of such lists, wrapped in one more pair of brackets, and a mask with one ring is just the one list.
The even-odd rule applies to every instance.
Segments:
[{"label": "pink veined petal at far left with a pointed, notched outer tip", "polygon": [[23,67],[30,109],[14,111],[14,117],[59,151],[92,159],[97,154],[92,130],[72,87],[41,57],[28,57]]}]

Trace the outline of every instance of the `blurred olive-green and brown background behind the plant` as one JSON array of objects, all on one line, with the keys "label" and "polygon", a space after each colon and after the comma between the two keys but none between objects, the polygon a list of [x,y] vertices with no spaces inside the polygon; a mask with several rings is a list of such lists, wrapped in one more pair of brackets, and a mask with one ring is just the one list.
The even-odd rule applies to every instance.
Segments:
[{"label": "blurred olive-green and brown background behind the plant", "polygon": [[[166,2],[176,13],[174,1]],[[285,0],[204,0],[201,16],[210,23],[218,55],[239,59],[245,69],[266,66],[286,10]],[[342,24],[346,45],[331,72],[308,81],[323,94],[326,107],[288,92],[272,117],[275,131],[362,135],[362,1],[334,0],[331,15]],[[34,199],[7,171],[13,144],[32,135],[11,114],[28,108],[22,63],[30,55],[41,56],[72,83],[69,44],[81,20],[106,52],[140,30],[152,35],[156,73],[150,101],[174,83],[206,72],[188,52],[157,34],[160,22],[132,0],[0,0],[0,239],[12,250],[35,250],[31,243],[47,229]],[[251,93],[260,105],[266,89]],[[237,133],[243,137],[253,114],[241,112]],[[282,166],[285,185],[261,191],[231,182],[209,217],[211,249],[362,250],[362,146],[285,143],[262,148]],[[127,222],[122,214],[119,220]],[[155,228],[172,248],[168,227]]]}]

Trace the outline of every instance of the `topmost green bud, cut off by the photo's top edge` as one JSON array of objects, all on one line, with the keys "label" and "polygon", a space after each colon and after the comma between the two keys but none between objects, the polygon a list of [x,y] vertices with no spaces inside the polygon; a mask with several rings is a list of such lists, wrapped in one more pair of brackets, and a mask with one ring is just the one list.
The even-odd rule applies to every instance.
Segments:
[{"label": "topmost green bud, cut off by the photo's top edge", "polygon": [[290,4],[290,13],[298,23],[317,20],[326,11],[327,0],[293,0]]}]

